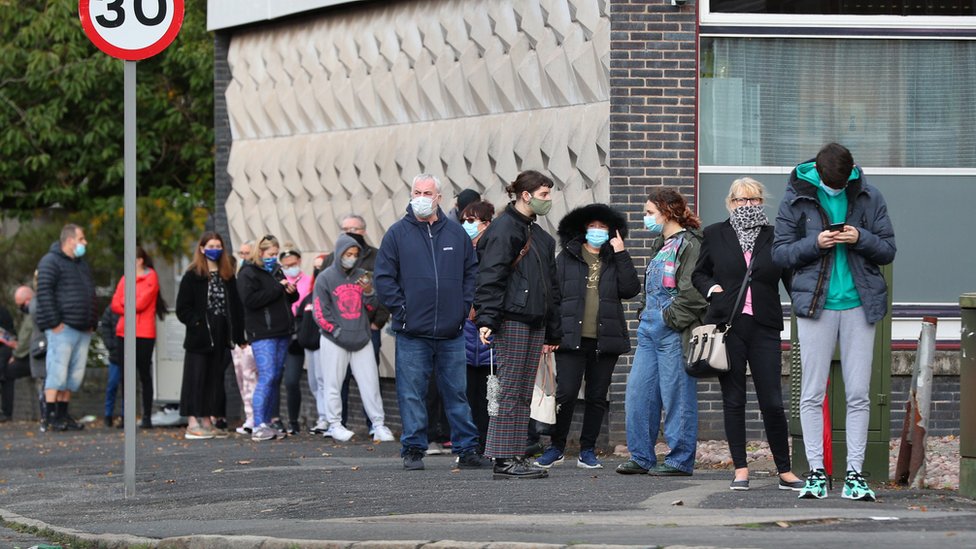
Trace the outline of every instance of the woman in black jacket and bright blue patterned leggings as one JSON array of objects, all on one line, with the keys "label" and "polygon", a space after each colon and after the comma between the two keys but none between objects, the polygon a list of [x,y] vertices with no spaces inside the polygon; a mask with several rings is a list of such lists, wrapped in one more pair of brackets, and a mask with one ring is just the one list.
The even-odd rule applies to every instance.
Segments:
[{"label": "woman in black jacket and bright blue patterned leggings", "polygon": [[251,440],[255,442],[286,436],[271,428],[271,419],[278,415],[281,376],[294,322],[291,304],[298,300],[298,290],[278,265],[278,247],[274,236],[262,238],[254,257],[244,263],[237,277],[237,292],[244,306],[244,333],[258,367],[251,402]]}]

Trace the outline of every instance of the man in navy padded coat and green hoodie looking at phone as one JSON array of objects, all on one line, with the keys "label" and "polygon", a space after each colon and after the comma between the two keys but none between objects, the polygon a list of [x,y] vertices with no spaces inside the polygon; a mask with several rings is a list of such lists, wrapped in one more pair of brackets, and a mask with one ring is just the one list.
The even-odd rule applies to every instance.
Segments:
[{"label": "man in navy padded coat and green hoodie looking at phone", "polygon": [[895,259],[895,233],[878,189],[851,152],[825,145],[790,174],[776,216],[773,261],[793,271],[803,379],[800,423],[810,473],[800,498],[827,497],[823,401],[834,347],[840,343],[847,395],[847,474],[841,496],[874,501],[861,474],[871,413],[874,331],[888,308],[880,266]]}]

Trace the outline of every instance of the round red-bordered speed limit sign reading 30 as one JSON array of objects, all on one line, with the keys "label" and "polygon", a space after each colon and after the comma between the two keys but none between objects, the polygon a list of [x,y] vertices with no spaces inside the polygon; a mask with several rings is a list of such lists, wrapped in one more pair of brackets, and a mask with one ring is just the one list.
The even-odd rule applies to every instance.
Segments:
[{"label": "round red-bordered speed limit sign reading 30", "polygon": [[183,0],[80,0],[78,16],[98,49],[140,61],[176,38],[183,24]]}]

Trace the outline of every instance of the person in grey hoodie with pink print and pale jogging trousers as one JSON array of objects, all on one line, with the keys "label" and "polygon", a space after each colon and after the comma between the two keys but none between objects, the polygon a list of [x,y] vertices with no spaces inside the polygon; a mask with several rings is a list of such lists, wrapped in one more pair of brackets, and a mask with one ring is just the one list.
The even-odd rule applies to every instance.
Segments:
[{"label": "person in grey hoodie with pink print and pale jogging trousers", "polygon": [[346,441],[353,433],[342,425],[342,399],[339,396],[346,377],[346,365],[359,386],[366,415],[373,423],[373,440],[392,441],[393,434],[383,424],[383,400],[379,374],[373,355],[369,315],[376,309],[372,278],[359,266],[359,244],[343,233],[336,240],[336,261],[315,279],[313,316],[322,332],[319,364],[325,380],[325,436]]}]

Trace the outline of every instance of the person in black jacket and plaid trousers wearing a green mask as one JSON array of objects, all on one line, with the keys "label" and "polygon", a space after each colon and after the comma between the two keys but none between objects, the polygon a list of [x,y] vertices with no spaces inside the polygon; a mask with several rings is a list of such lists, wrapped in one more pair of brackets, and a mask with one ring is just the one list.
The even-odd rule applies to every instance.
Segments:
[{"label": "person in black jacket and plaid trousers wearing a green mask", "polygon": [[559,347],[556,241],[535,223],[552,207],[552,180],[522,172],[505,191],[515,200],[478,241],[475,324],[481,342],[495,334],[501,394],[488,424],[485,455],[495,458],[495,478],[544,478],[549,472],[525,462],[529,401],[539,359]]}]

